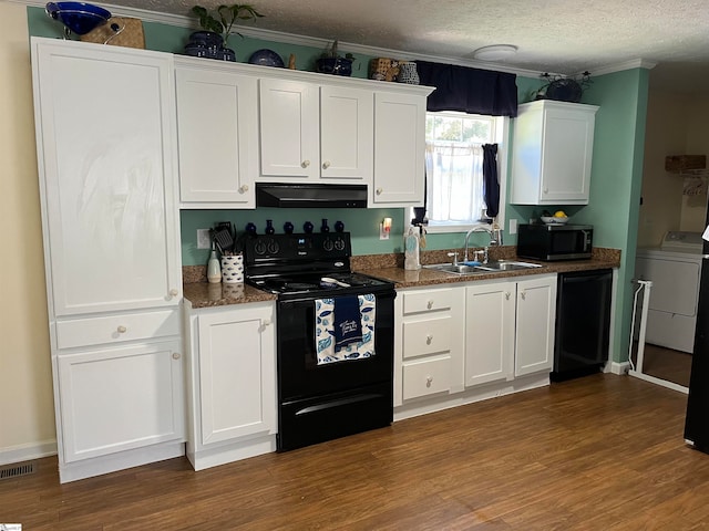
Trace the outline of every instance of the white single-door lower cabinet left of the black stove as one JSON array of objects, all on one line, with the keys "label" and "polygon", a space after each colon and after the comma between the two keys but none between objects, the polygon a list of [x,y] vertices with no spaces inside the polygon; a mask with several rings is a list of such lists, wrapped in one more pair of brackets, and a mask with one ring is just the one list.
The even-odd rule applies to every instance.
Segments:
[{"label": "white single-door lower cabinet left of the black stove", "polygon": [[195,470],[275,450],[274,315],[273,302],[191,312],[187,457]]}]

